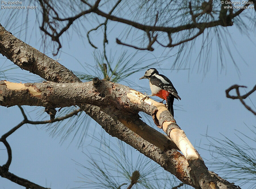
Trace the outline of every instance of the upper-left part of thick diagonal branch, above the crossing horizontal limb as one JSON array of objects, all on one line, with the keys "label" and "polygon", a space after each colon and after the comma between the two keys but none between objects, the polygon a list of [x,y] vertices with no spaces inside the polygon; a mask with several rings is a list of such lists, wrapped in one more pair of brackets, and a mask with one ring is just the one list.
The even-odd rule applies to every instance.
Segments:
[{"label": "upper-left part of thick diagonal branch, above the crossing horizontal limb", "polygon": [[[23,70],[28,70],[43,79],[57,83],[61,82],[62,78],[70,78],[69,81],[71,83],[80,81],[78,77],[65,68],[65,66],[20,41],[13,36],[12,33],[6,31],[1,24],[0,53]],[[26,57],[27,62],[22,62],[22,60],[20,60],[22,57]],[[58,70],[58,72],[56,72],[56,70]]]}]

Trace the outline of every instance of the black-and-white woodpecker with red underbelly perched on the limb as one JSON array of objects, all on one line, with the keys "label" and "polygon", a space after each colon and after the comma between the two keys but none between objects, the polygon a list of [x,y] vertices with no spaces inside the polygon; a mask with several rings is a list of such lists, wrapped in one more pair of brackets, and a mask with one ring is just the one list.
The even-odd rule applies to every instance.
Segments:
[{"label": "black-and-white woodpecker with red underbelly perched on the limb", "polygon": [[144,76],[142,76],[140,79],[145,79],[145,78],[149,79],[149,86],[150,86],[152,95],[147,95],[141,100],[148,98],[148,96],[158,96],[166,100],[167,109],[172,113],[172,116],[174,116],[174,112],[173,112],[174,98],[176,98],[177,100],[181,100],[181,98],[179,97],[178,92],[176,91],[174,86],[172,85],[172,82],[170,81],[170,79],[168,79],[166,76],[162,74],[159,74],[156,68],[148,69],[145,72]]}]

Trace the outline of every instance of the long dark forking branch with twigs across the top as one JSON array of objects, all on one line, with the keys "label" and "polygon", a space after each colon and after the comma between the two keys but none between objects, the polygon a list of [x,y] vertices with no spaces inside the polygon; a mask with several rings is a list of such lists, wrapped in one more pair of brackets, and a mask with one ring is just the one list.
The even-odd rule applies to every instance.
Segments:
[{"label": "long dark forking branch with twigs across the top", "polygon": [[[191,14],[191,17],[192,17],[192,20],[193,20],[193,23],[188,23],[188,24],[185,24],[185,25],[180,25],[180,26],[177,26],[177,27],[164,27],[164,26],[156,26],[156,23],[157,23],[157,20],[158,20],[158,13],[156,14],[156,19],[155,19],[155,22],[154,22],[154,25],[153,26],[150,26],[150,25],[145,25],[145,24],[140,24],[139,22],[135,22],[135,21],[131,21],[131,20],[127,20],[127,19],[124,19],[124,18],[120,18],[120,17],[117,17],[117,16],[114,16],[112,15],[112,12],[113,10],[117,7],[117,5],[121,2],[121,0],[117,1],[117,3],[112,7],[112,9],[110,10],[110,12],[108,13],[105,13],[101,10],[99,10],[98,6],[99,6],[99,3],[100,3],[100,0],[97,0],[95,2],[94,5],[90,5],[89,3],[87,3],[86,1],[84,0],[81,0],[83,3],[85,3],[86,5],[88,5],[90,8],[88,10],[84,10],[82,12],[80,12],[79,14],[73,16],[73,17],[68,17],[68,18],[59,18],[56,10],[54,10],[54,8],[49,5],[49,3],[45,2],[45,0],[40,0],[40,4],[41,4],[41,7],[43,9],[43,21],[42,21],[42,25],[40,27],[40,29],[46,33],[46,35],[49,35],[51,37],[51,39],[55,42],[58,43],[58,48],[57,48],[57,53],[59,51],[59,49],[61,48],[61,43],[59,41],[59,37],[65,32],[68,30],[68,28],[71,26],[71,24],[73,24],[73,22],[77,19],[77,18],[80,18],[81,16],[85,15],[85,14],[88,14],[88,13],[91,13],[91,12],[94,12],[100,16],[103,16],[104,18],[106,18],[105,22],[104,23],[101,23],[99,24],[96,28],[92,29],[92,30],[89,30],[89,32],[87,33],[87,37],[88,37],[88,40],[89,40],[89,43],[90,45],[92,45],[92,47],[94,48],[97,48],[95,45],[92,44],[92,42],[90,41],[89,39],[89,33],[93,30],[97,30],[100,26],[104,25],[104,58],[106,59],[107,61],[107,64],[108,64],[108,67],[110,69],[110,71],[112,71],[110,65],[109,65],[109,62],[108,62],[108,58],[106,56],[106,50],[105,50],[105,43],[108,42],[107,40],[107,37],[106,37],[106,30],[107,30],[107,22],[108,20],[112,20],[112,21],[116,21],[116,22],[121,22],[121,23],[124,23],[124,24],[127,24],[127,25],[130,25],[130,26],[133,26],[139,30],[143,30],[145,31],[147,34],[149,32],[152,32],[152,36],[154,34],[154,32],[156,31],[160,31],[160,32],[166,32],[166,33],[177,33],[177,32],[180,32],[180,31],[183,31],[183,30],[191,30],[191,29],[194,29],[194,28],[199,28],[200,30],[204,30],[205,28],[210,28],[210,27],[215,27],[215,26],[232,26],[233,25],[233,22],[231,21],[232,18],[238,16],[243,10],[243,9],[240,9],[238,10],[237,12],[235,12],[233,14],[232,11],[230,11],[230,14],[229,15],[226,15],[224,17],[219,17],[219,20],[213,20],[213,21],[210,21],[210,22],[199,22],[197,23],[196,22],[196,18],[198,16],[201,16],[205,13],[207,14],[211,14],[211,11],[212,11],[212,0],[206,2],[204,1],[203,4],[202,4],[202,11],[197,13],[197,14],[194,14],[193,13],[193,10],[192,10],[192,6],[191,6],[191,2],[189,2],[189,9],[190,9],[190,14]],[[249,1],[251,2],[251,1]],[[246,7],[248,6],[249,4],[246,5]],[[53,20],[53,22],[50,22],[49,21],[49,18],[48,18],[48,14],[49,14],[49,10],[52,10],[54,12],[54,14],[56,15],[55,17],[53,17],[53,19],[55,21],[68,21],[67,25],[65,27],[63,27],[60,32],[57,32],[57,29],[55,27],[52,26],[53,23],[55,23],[55,21]],[[49,27],[51,32],[48,32],[46,27]],[[168,36],[169,36],[168,34]],[[201,33],[200,33],[201,34]],[[199,35],[200,35],[199,34]],[[189,39],[187,40],[183,40],[183,41],[180,41],[179,43],[176,43],[175,45],[171,45],[171,43],[169,43],[168,45],[163,45],[161,43],[159,43],[160,45],[162,45],[163,47],[174,47],[176,45],[180,45],[181,43],[185,43],[187,41],[190,41],[192,39],[194,39],[195,37],[197,37],[198,35],[195,35],[193,37],[190,37]],[[150,37],[150,40],[151,40],[151,37]],[[141,47],[136,47],[134,45],[129,45],[129,44],[126,44],[126,43],[122,43],[120,40],[118,40],[119,43],[118,44],[121,44],[121,45],[126,45],[126,46],[129,46],[129,47],[133,47],[135,49],[139,49],[139,50],[149,50],[149,51],[153,51],[154,49],[153,48],[141,48]],[[150,43],[151,41],[149,41]],[[56,55],[57,53],[54,53],[54,55]]]}]

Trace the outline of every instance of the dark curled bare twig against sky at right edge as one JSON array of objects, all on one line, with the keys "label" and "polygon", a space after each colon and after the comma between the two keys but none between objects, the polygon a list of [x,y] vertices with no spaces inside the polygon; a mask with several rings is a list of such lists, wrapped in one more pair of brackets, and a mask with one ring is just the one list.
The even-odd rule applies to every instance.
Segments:
[{"label": "dark curled bare twig against sky at right edge", "polygon": [[[231,87],[229,87],[227,90],[226,90],[226,97],[227,98],[231,98],[231,99],[239,99],[241,101],[241,103],[245,106],[245,108],[247,108],[247,110],[249,110],[250,112],[252,112],[255,116],[256,116],[256,112],[254,110],[251,109],[251,107],[249,107],[247,104],[245,104],[245,102],[243,101],[243,99],[247,98],[249,95],[251,95],[254,91],[256,91],[256,85],[253,87],[253,89],[251,91],[249,91],[248,93],[246,93],[245,95],[240,95],[240,91],[239,91],[239,87],[245,87],[247,88],[246,86],[243,86],[243,85],[232,85]],[[236,89],[236,94],[237,96],[231,96],[229,94],[229,92],[232,90],[232,89]]]}]

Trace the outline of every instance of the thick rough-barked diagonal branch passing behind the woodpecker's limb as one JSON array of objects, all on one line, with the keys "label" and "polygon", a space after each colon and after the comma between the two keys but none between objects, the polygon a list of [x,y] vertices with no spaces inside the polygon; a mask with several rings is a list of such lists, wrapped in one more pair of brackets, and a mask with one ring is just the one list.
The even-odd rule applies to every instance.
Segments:
[{"label": "thick rough-barked diagonal branch passing behind the woodpecker's limb", "polygon": [[[1,33],[1,30],[3,31],[2,33]],[[2,37],[1,34],[6,35],[6,32],[7,31],[3,27],[0,27],[0,37]],[[10,34],[9,32],[7,32],[7,33]],[[34,54],[31,54],[30,56],[34,57],[35,61],[30,62],[31,65],[29,67],[26,67],[28,69],[28,71],[33,70],[34,67],[41,68],[44,65],[46,65],[46,66],[48,65],[47,68],[38,69],[39,72],[41,71],[40,73],[38,73],[38,75],[40,75],[41,77],[46,78],[50,81],[52,81],[54,78],[56,78],[56,75],[61,76],[61,77],[57,77],[57,78],[58,78],[58,82],[62,82],[62,83],[70,82],[70,81],[72,82],[72,81],[74,81],[73,78],[75,78],[75,80],[77,82],[81,82],[70,71],[69,71],[69,73],[59,75],[58,72],[62,72],[63,70],[67,70],[67,68],[64,67],[64,69],[63,69],[62,67],[58,66],[59,65],[58,62],[54,61],[53,59],[49,58],[48,56],[44,55],[43,53],[38,54],[38,53],[40,53],[39,51],[30,47],[26,43],[18,40],[16,37],[9,36],[8,38],[5,38],[5,40],[6,40],[7,43],[8,43],[8,40],[15,42],[15,43],[13,43],[12,46],[7,45],[8,48],[4,49],[4,50],[8,49],[7,53],[10,54],[11,56],[13,56],[14,57],[13,59],[15,61],[18,60],[17,56],[20,56],[19,53],[22,53],[22,54],[26,55],[26,54],[30,54],[30,51],[34,52]],[[19,48],[20,46],[26,46],[26,45],[27,45],[26,48],[22,48],[22,49],[20,49],[20,52],[18,51],[18,53],[15,53],[16,48]],[[28,49],[28,52],[26,51],[27,49]],[[4,51],[1,51],[1,52],[3,54],[6,54]],[[37,56],[43,57],[44,61],[41,61],[41,59],[38,59]],[[37,61],[37,60],[39,60],[39,61]],[[45,62],[47,62],[47,64],[45,64]],[[18,63],[17,65],[21,67],[19,62],[17,62],[17,63]],[[51,68],[54,68],[54,70],[51,70]],[[49,72],[52,73],[51,77],[49,77],[48,73],[45,72],[44,70],[49,70]],[[118,123],[115,123],[115,127],[113,127],[113,125],[110,125],[110,123],[106,122],[106,121],[109,121],[109,120],[113,120],[113,118],[110,117],[108,114],[100,111],[100,108],[97,107],[97,106],[92,106],[92,105],[89,105],[89,104],[82,104],[81,107],[86,112],[86,114],[88,114],[96,122],[98,122],[103,127],[103,129],[106,130],[107,133],[109,133],[113,137],[117,137],[120,140],[123,140],[127,144],[130,144],[135,149],[137,149],[141,153],[143,153],[145,156],[149,157],[153,161],[160,164],[162,167],[164,167],[164,169],[166,169],[170,173],[176,175],[176,177],[178,179],[180,179],[182,182],[187,183],[187,184],[192,185],[192,186],[198,186],[195,182],[191,181],[190,175],[189,175],[190,168],[188,166],[188,163],[185,163],[187,161],[184,158],[183,158],[183,160],[182,160],[182,158],[180,158],[180,156],[182,156],[182,155],[179,152],[173,151],[172,153],[174,153],[174,152],[175,153],[172,154],[172,155],[170,155],[171,153],[163,152],[160,148],[150,144],[146,140],[143,140],[141,137],[139,137],[138,135],[133,133],[133,131],[131,131],[130,129],[127,129],[127,127],[119,121],[118,121]],[[114,115],[112,115],[112,116],[114,117]],[[143,130],[143,127],[138,127],[138,128]],[[147,134],[152,135],[152,138],[157,138],[158,137],[157,135],[154,135],[154,133],[146,133],[146,131],[147,131],[147,129],[144,130],[145,135],[147,135]],[[158,131],[156,131],[156,133],[158,133]],[[137,137],[134,137],[134,135],[137,136]],[[167,141],[166,143],[168,144],[170,142]],[[168,147],[166,147],[166,146],[164,148],[168,149]]]}]

